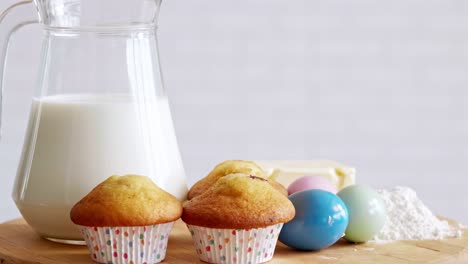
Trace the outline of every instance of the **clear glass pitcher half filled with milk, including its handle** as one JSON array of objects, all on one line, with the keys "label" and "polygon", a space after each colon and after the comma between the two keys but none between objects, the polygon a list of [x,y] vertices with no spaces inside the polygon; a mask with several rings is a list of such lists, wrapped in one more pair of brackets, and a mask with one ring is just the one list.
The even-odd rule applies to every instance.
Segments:
[{"label": "clear glass pitcher half filled with milk, including its handle", "polygon": [[160,0],[35,0],[0,15],[0,67],[16,30],[36,22],[43,29],[13,199],[44,238],[82,240],[70,209],[111,175],[146,175],[185,198],[160,72],[159,7]]}]

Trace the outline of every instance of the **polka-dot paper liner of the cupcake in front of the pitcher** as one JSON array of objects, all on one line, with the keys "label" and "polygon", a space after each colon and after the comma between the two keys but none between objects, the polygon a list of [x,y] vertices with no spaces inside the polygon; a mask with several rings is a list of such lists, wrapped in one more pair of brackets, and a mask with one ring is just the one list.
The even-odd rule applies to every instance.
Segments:
[{"label": "polka-dot paper liner of the cupcake in front of the pitcher", "polygon": [[174,222],[131,227],[78,226],[91,258],[99,263],[158,263],[166,256]]}]

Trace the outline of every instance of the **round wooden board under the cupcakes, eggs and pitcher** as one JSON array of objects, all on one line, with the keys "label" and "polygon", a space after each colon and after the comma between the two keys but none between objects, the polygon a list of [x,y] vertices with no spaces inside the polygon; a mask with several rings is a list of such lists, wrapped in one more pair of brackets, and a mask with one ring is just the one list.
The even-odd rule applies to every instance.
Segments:
[{"label": "round wooden board under the cupcakes, eggs and pitcher", "polygon": [[[455,224],[452,222],[452,224]],[[183,222],[174,225],[165,263],[202,263]],[[340,240],[319,252],[299,252],[278,242],[270,263],[468,263],[468,230],[461,238],[350,244]],[[0,225],[1,264],[94,263],[85,246],[62,245],[40,238],[19,219]]]}]

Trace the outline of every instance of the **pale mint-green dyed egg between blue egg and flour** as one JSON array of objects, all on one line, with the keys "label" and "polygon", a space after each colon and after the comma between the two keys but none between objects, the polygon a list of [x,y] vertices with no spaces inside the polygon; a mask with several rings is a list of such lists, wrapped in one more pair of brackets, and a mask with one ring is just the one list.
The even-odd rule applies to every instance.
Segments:
[{"label": "pale mint-green dyed egg between blue egg and flour", "polygon": [[349,224],[345,239],[351,242],[366,242],[372,239],[385,224],[387,211],[380,195],[372,188],[351,185],[338,193],[346,204]]}]

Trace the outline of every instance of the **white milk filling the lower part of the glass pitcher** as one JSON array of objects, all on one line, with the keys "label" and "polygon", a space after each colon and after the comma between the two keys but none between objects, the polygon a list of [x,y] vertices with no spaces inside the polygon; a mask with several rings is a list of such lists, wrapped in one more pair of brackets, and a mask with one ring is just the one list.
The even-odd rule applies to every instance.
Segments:
[{"label": "white milk filling the lower part of the glass pitcher", "polygon": [[13,197],[36,231],[81,240],[69,220],[71,207],[115,174],[149,176],[185,198],[167,98],[66,95],[33,101]]}]

